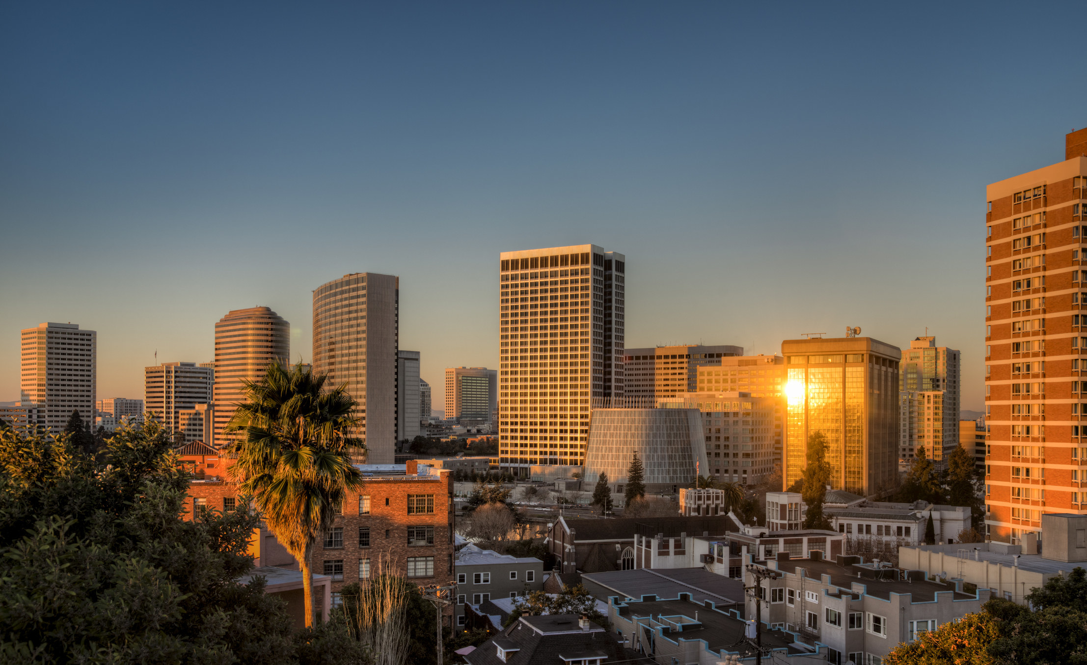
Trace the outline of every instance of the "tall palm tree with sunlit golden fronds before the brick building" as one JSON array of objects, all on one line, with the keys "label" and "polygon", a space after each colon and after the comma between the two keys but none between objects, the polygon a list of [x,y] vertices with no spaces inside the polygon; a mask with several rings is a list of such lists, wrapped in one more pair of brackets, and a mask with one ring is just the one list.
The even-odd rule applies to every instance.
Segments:
[{"label": "tall palm tree with sunlit golden fronds before the brick building", "polygon": [[327,375],[275,362],[259,382],[246,381],[227,432],[243,434],[228,452],[230,476],[252,497],[264,522],[302,567],[305,625],[313,624],[313,543],[332,527],[348,490],[362,487],[351,453],[365,450],[348,432],[359,418],[347,384],[325,389]]}]

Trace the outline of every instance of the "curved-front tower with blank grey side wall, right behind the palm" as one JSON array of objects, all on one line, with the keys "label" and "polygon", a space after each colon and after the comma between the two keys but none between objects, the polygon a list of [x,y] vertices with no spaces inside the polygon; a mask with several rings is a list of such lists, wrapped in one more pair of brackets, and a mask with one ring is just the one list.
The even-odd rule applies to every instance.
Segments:
[{"label": "curved-front tower with blank grey side wall, right behind the palm", "polygon": [[351,273],[313,291],[313,371],[359,402],[370,464],[392,464],[397,442],[400,278]]}]

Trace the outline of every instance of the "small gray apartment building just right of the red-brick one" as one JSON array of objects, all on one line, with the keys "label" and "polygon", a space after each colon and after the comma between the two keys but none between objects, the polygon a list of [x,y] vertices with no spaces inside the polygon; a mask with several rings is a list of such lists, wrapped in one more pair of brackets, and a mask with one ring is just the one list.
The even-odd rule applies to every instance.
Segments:
[{"label": "small gray apartment building just right of the red-brick one", "polygon": [[457,625],[464,625],[464,605],[500,598],[527,595],[544,589],[544,562],[533,556],[511,556],[465,545],[457,554]]}]

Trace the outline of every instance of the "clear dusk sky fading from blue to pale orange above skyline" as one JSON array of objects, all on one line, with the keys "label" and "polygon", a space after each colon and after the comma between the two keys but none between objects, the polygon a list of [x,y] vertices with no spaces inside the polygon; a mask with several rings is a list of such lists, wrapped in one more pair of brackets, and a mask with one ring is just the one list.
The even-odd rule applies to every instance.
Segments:
[{"label": "clear dusk sky fading from blue to pale orange above skyline", "polygon": [[[498,253],[627,256],[628,347],[845,326],[963,352],[985,185],[1087,125],[1082,3],[0,8],[0,400],[18,331],[99,332],[98,397],[267,305],[400,276],[400,346],[498,364]],[[1075,20],[1075,21],[1074,21]]]}]

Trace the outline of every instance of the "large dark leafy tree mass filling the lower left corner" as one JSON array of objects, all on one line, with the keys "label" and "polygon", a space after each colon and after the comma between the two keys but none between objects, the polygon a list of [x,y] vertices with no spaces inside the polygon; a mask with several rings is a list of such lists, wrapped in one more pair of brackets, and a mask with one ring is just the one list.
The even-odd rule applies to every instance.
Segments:
[{"label": "large dark leafy tree mass filling the lower left corner", "polygon": [[189,478],[154,422],[100,460],[0,432],[0,662],[298,663],[283,602],[237,584],[259,516],[180,519]]}]

